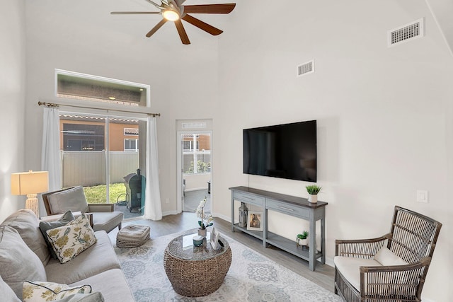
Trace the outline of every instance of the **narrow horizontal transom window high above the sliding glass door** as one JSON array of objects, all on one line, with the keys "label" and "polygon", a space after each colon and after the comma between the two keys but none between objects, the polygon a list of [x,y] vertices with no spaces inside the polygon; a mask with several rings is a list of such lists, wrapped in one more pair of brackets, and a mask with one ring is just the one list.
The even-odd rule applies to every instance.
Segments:
[{"label": "narrow horizontal transom window high above the sliding glass door", "polygon": [[148,85],[60,69],[55,78],[58,97],[149,107]]}]

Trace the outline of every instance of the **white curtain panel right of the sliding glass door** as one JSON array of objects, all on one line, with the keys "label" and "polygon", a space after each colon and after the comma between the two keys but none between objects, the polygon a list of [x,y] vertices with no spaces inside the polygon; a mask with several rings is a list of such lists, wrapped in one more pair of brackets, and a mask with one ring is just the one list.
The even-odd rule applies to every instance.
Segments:
[{"label": "white curtain panel right of the sliding glass door", "polygon": [[157,156],[156,117],[147,121],[147,174],[144,201],[144,219],[161,220],[161,191],[159,190],[159,162]]}]

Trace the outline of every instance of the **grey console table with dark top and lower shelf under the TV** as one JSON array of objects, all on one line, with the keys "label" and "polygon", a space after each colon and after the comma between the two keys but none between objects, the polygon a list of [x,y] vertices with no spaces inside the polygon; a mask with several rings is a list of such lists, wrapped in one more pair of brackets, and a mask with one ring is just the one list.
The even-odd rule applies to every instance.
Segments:
[{"label": "grey console table with dark top and lower shelf under the TV", "polygon": [[[309,268],[314,271],[316,260],[326,262],[326,205],[327,202],[311,204],[306,198],[294,197],[275,192],[253,189],[251,187],[230,187],[231,190],[231,231],[240,230],[263,240],[263,245],[274,245],[297,257],[309,261]],[[234,223],[234,201],[253,204],[263,209],[261,223],[263,231],[251,231]],[[289,240],[268,231],[268,209],[309,221],[309,250],[296,246],[296,238]],[[316,250],[316,221],[321,220],[321,250]],[[319,248],[319,247],[318,247]]]}]

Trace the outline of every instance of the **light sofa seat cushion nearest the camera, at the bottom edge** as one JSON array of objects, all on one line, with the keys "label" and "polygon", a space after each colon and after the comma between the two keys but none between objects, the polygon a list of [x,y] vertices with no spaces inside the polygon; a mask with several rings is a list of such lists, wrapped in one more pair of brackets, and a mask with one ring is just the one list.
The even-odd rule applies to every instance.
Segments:
[{"label": "light sofa seat cushion nearest the camera, at the bottom edge", "polygon": [[[69,262],[70,263],[70,262]],[[105,281],[108,280],[108,281]],[[101,291],[108,302],[134,302],[134,296],[121,269],[110,269],[70,286],[90,284],[93,291]]]}]

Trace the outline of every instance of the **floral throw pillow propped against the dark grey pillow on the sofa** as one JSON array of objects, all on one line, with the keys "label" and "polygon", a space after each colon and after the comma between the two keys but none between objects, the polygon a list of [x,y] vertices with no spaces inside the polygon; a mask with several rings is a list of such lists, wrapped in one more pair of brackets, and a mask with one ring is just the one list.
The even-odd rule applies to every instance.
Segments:
[{"label": "floral throw pillow propped against the dark grey pillow on the sofa", "polygon": [[91,247],[97,239],[86,214],[81,214],[66,226],[46,231],[59,262],[66,263]]}]

